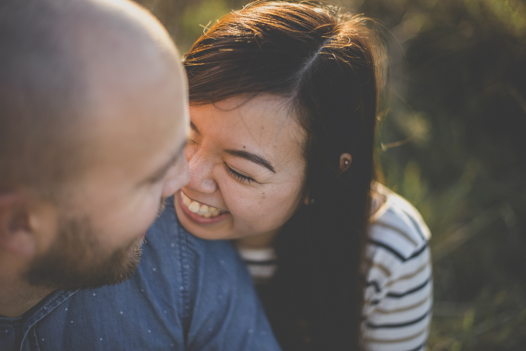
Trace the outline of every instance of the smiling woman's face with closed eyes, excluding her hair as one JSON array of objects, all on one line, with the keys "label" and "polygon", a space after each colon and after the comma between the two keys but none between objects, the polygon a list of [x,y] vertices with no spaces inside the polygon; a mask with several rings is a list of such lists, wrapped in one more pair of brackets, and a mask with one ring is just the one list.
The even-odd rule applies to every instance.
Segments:
[{"label": "smiling woman's face with closed eyes, excluding her hair", "polygon": [[275,233],[298,206],[304,131],[285,99],[260,95],[190,107],[191,181],[177,216],[204,239]]}]

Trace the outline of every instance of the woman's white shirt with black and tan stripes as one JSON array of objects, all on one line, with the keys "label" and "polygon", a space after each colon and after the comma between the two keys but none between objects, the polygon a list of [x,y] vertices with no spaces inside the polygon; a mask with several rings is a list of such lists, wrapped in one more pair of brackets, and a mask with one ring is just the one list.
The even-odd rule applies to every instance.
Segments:
[{"label": "woman's white shirt with black and tan stripes", "polygon": [[[431,322],[432,269],[429,229],[412,205],[379,183],[373,208],[363,277],[362,335],[369,351],[423,351]],[[376,203],[376,205],[375,205]],[[238,247],[255,283],[277,269],[272,247]]]}]

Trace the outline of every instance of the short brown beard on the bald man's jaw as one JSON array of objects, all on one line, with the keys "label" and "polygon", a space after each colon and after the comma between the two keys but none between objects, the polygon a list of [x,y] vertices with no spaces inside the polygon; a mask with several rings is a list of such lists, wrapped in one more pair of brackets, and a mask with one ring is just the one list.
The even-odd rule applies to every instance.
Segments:
[{"label": "short brown beard on the bald man's jaw", "polygon": [[[159,215],[166,199],[161,199]],[[107,252],[89,218],[63,218],[49,250],[33,260],[25,277],[29,284],[53,289],[86,289],[120,284],[134,275],[143,240],[134,239]]]}]

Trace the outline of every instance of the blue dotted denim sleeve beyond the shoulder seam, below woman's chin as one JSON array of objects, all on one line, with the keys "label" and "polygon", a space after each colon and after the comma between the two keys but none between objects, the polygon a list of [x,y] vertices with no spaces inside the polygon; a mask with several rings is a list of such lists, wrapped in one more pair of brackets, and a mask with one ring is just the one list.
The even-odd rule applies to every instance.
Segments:
[{"label": "blue dotted denim sleeve beyond the shoulder seam, below woman's chin", "polygon": [[227,241],[183,243],[188,350],[280,350],[250,275]]}]

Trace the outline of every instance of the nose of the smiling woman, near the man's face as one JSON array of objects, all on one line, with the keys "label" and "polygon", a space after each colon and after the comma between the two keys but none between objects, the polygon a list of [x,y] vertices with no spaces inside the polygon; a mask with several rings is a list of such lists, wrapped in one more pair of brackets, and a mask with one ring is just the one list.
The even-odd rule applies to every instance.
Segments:
[{"label": "nose of the smiling woman, near the man's face", "polygon": [[187,154],[187,158],[191,176],[185,188],[201,193],[214,193],[217,183],[212,174],[213,162],[207,157],[206,149],[201,148],[193,154]]}]

